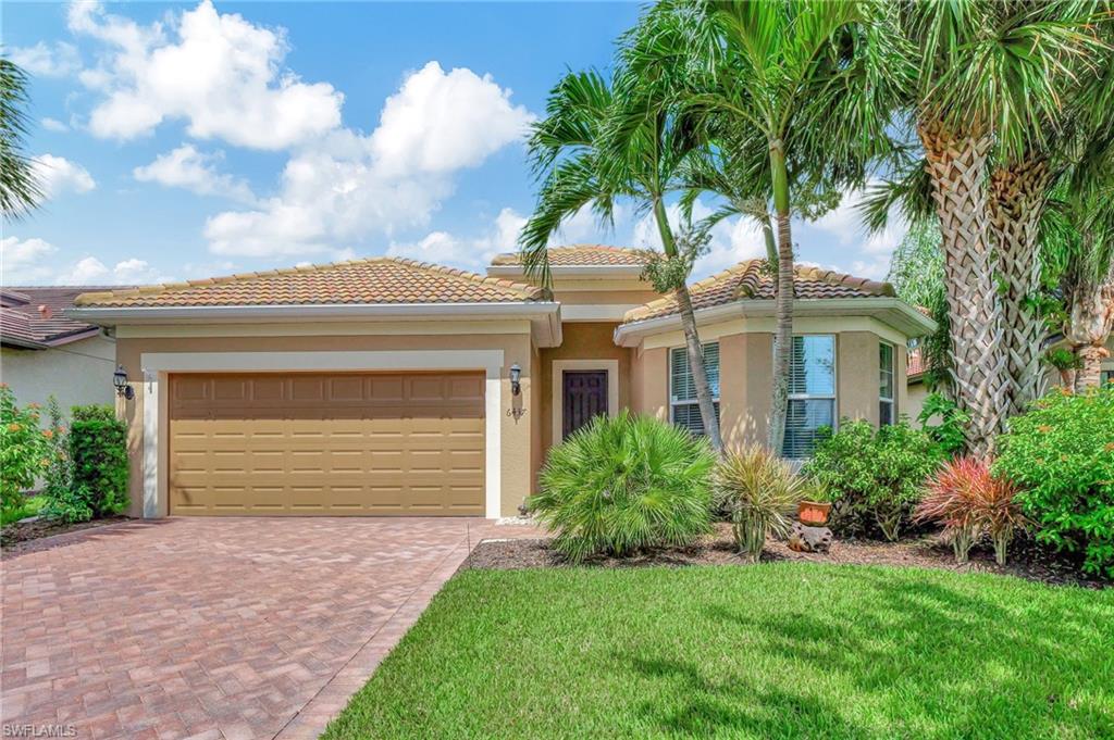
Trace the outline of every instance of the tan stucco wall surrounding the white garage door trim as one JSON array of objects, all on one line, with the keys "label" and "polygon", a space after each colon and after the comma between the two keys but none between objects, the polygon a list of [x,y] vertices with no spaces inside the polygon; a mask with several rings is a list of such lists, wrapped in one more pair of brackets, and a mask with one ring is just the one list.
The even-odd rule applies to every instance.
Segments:
[{"label": "tan stucco wall surrounding the white garage door trim", "polygon": [[[319,327],[320,330],[320,327]],[[531,450],[531,415],[537,413],[532,392],[534,351],[528,334],[458,334],[439,336],[381,336],[373,334],[325,336],[221,336],[221,337],[157,337],[120,338],[116,345],[118,362],[125,366],[133,379],[136,398],[125,406],[129,424],[129,453],[131,458],[129,514],[143,515],[143,406],[144,389],[140,354],[143,353],[199,353],[199,352],[368,352],[407,349],[501,349],[504,368],[501,381],[501,495],[500,513],[511,516],[517,513],[522,499],[529,495],[534,470],[535,452]],[[521,369],[521,395],[511,396],[508,369],[517,363]],[[282,368],[276,367],[275,371]],[[481,368],[477,368],[481,369]],[[109,378],[109,386],[111,385]],[[165,404],[164,404],[165,405]],[[519,418],[508,414],[520,406],[527,413]],[[165,410],[164,410],[165,412]],[[165,413],[159,414],[159,431],[164,443],[159,445],[159,514],[167,513],[166,475],[167,457],[165,435],[167,423]]]}]

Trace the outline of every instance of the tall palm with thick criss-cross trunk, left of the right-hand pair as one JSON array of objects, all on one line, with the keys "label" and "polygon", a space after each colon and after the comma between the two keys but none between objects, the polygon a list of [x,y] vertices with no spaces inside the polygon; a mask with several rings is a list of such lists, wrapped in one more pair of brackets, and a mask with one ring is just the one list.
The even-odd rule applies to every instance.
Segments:
[{"label": "tall palm with thick criss-cross trunk, left of the right-hand pair", "polygon": [[[1019,318],[1019,296],[1034,274],[1035,228],[1048,182],[1034,158],[1042,127],[1058,119],[1059,83],[1067,61],[1093,43],[1088,2],[908,0],[892,42],[909,55],[912,122],[924,146],[926,172],[944,237],[945,285],[951,326],[954,379],[970,415],[967,445],[987,455],[1013,407],[1007,329],[995,268],[995,237],[1005,244],[1008,347],[1032,341]],[[993,181],[991,156],[1004,162]],[[1029,255],[1026,262],[1026,255]],[[1017,376],[1029,377],[1032,357],[1017,353]]]}]

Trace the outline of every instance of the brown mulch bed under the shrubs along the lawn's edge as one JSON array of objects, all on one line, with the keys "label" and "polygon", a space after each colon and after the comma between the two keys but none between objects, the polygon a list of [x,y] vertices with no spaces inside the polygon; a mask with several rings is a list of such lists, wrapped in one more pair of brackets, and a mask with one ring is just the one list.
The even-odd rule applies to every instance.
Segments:
[{"label": "brown mulch bed under the shrubs along the lawn's edge", "polygon": [[[929,534],[899,542],[837,539],[827,553],[802,553],[790,550],[784,542],[766,540],[763,562],[805,561],[830,564],[889,565],[896,568],[932,568],[960,573],[996,573],[1048,584],[1079,585],[1088,589],[1114,586],[1114,582],[1087,578],[1078,564],[1051,552],[1028,539],[1013,543],[1009,562],[999,568],[989,547],[976,547],[970,562],[956,563],[951,545],[939,534]],[[713,535],[688,547],[668,547],[644,552],[632,558],[595,558],[589,568],[639,568],[646,565],[750,565],[741,558],[731,537],[731,530],[720,525]],[[468,556],[463,568],[489,570],[522,570],[529,568],[566,568],[569,563],[555,551],[547,539],[487,540]]]}]

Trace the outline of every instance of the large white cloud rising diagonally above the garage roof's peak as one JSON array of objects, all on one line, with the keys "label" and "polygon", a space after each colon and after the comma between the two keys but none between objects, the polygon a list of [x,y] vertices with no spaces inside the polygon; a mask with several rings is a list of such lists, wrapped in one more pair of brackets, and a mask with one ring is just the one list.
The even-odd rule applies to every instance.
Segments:
[{"label": "large white cloud rising diagonally above the garage roof's peak", "polygon": [[[520,140],[531,116],[512,107],[509,95],[490,77],[427,65],[388,98],[369,136],[339,129],[301,147],[283,169],[277,196],[209,218],[211,250],[313,254],[426,226],[452,195],[456,171]],[[408,127],[422,132],[410,136]]]}]

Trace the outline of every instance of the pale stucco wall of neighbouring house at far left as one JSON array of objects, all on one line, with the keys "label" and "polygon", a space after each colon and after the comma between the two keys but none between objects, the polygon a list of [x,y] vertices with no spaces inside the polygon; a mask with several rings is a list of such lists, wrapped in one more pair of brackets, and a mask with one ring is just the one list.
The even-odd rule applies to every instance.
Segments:
[{"label": "pale stucco wall of neighbouring house at far left", "polygon": [[46,406],[51,394],[62,411],[84,404],[116,401],[113,371],[116,343],[97,336],[56,349],[0,348],[0,382],[7,383],[20,404]]}]

